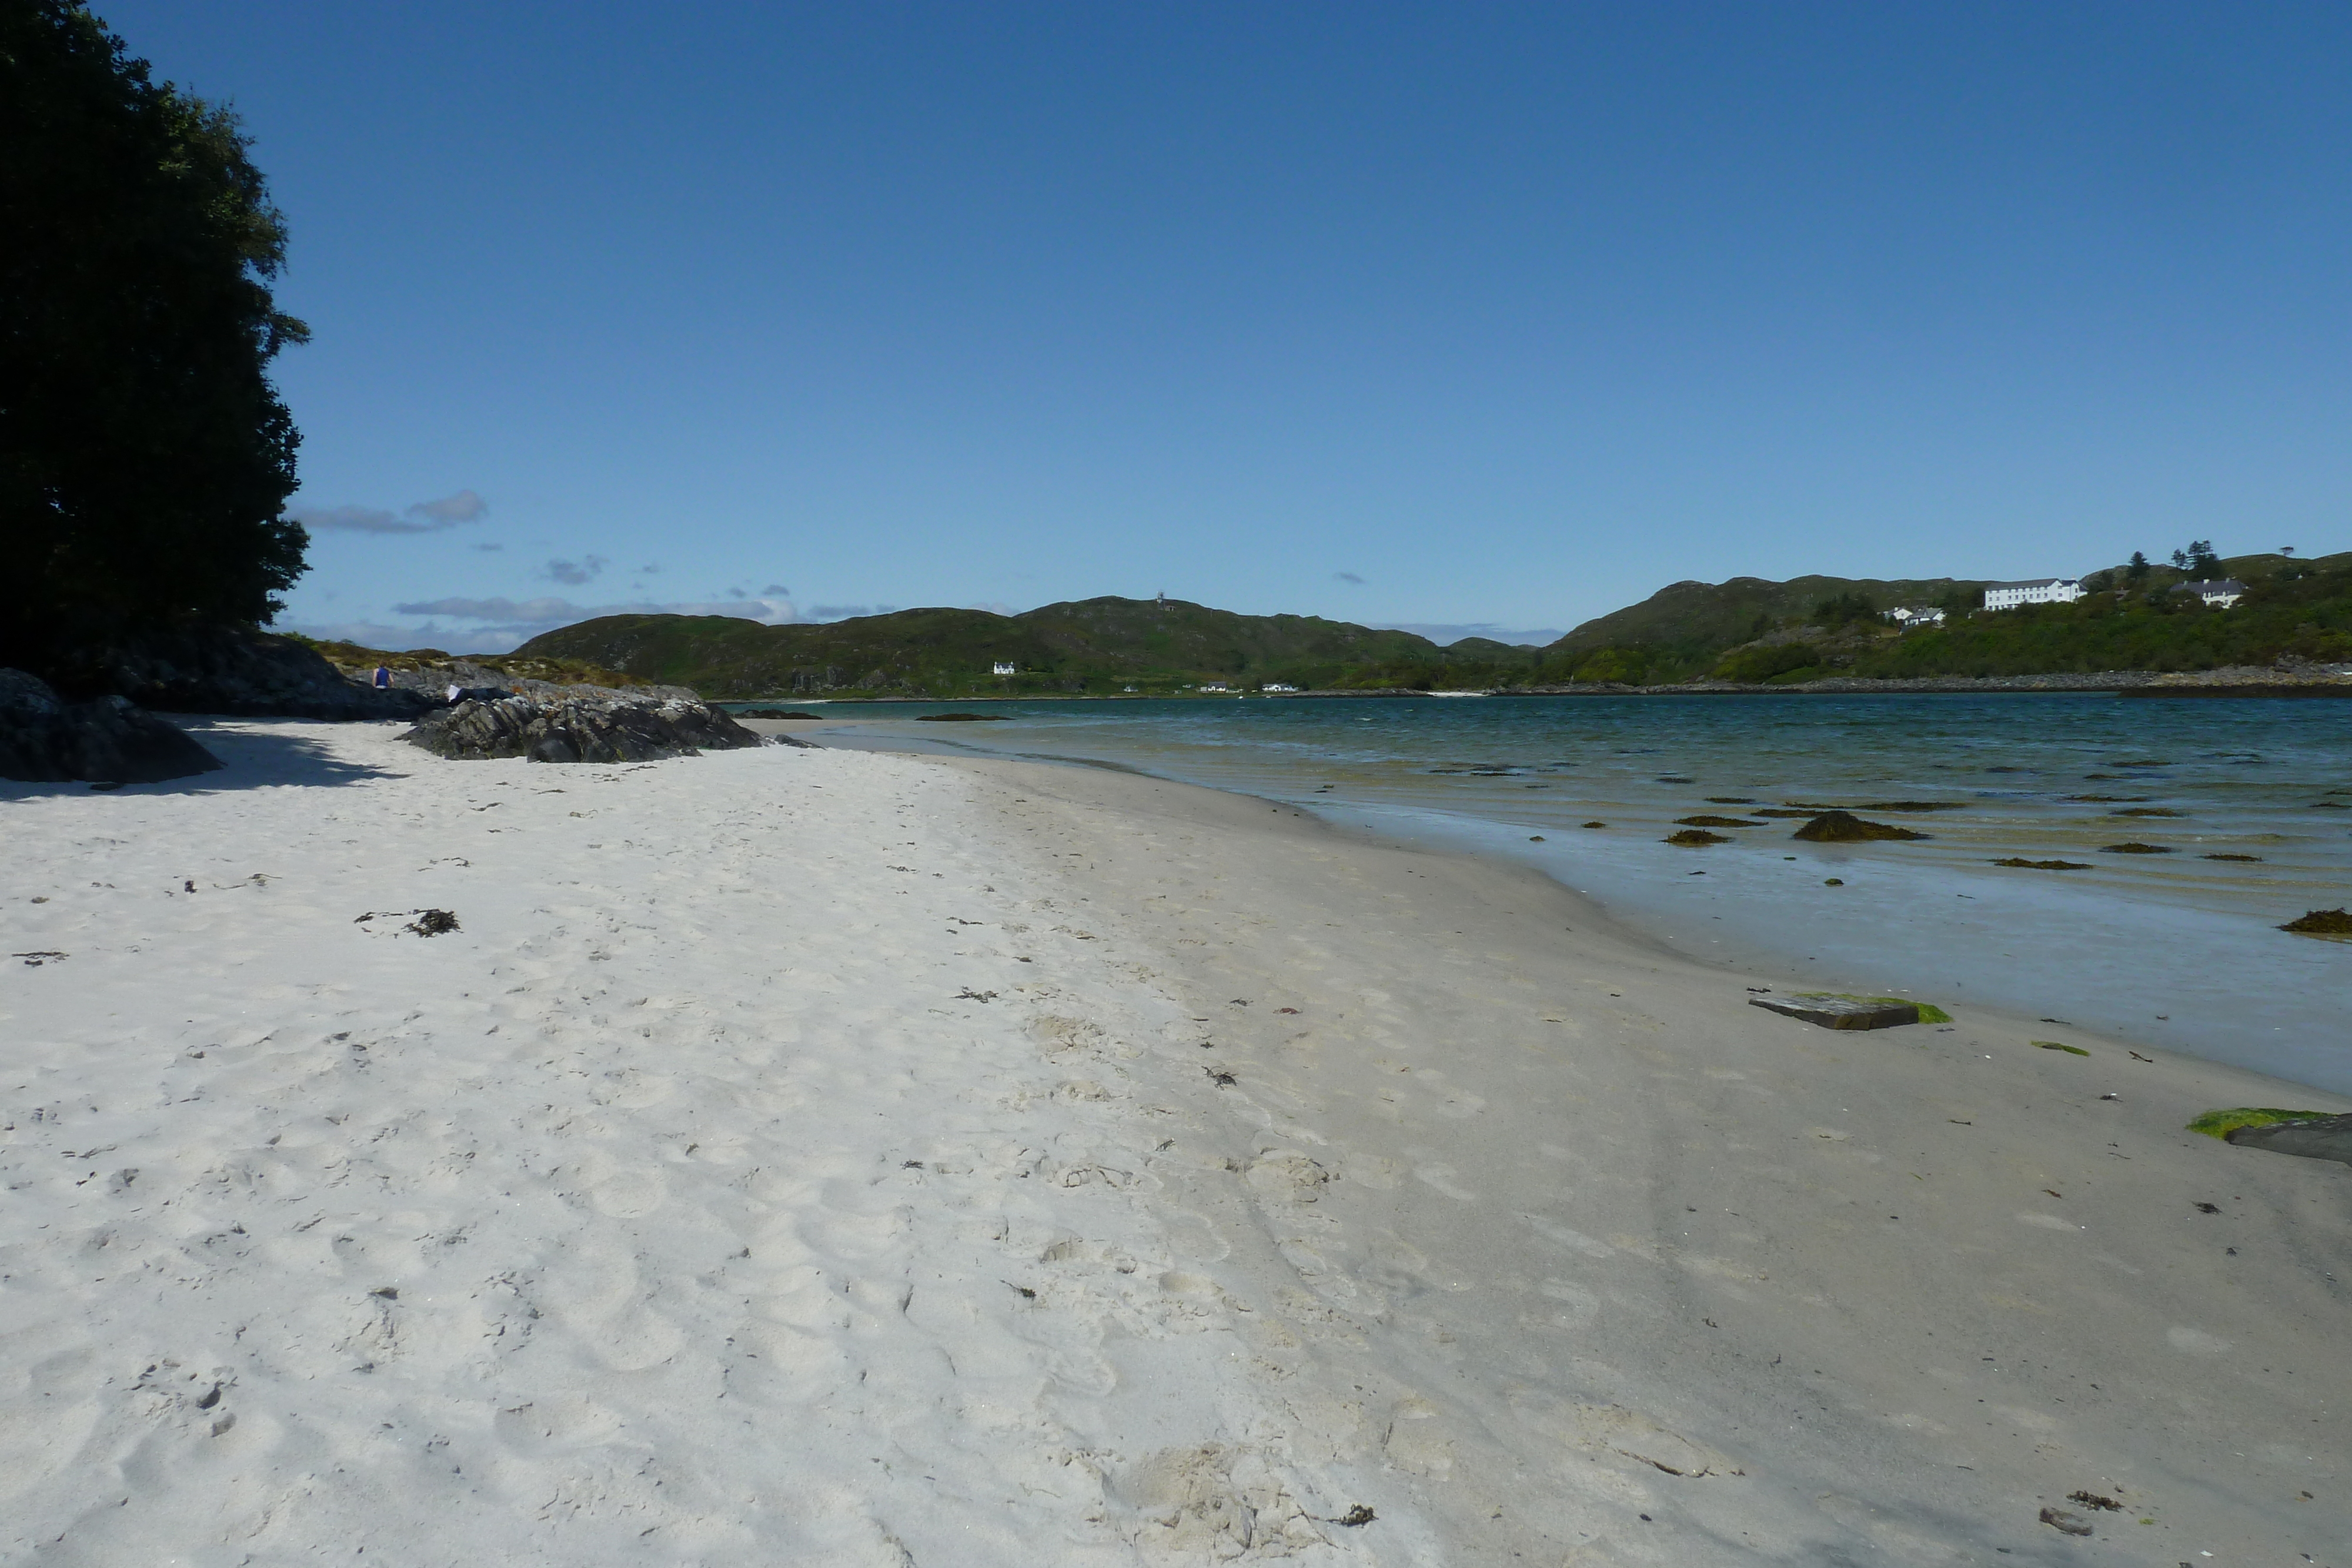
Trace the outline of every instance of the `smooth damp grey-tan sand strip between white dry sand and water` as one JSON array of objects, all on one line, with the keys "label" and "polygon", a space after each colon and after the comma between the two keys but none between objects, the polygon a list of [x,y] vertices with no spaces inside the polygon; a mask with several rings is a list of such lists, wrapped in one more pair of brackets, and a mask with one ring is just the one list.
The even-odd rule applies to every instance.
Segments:
[{"label": "smooth damp grey-tan sand strip between white dry sand and water", "polygon": [[1183,1001],[1197,1288],[1439,1561],[2343,1559],[2352,1168],[2183,1131],[2338,1095],[1971,1006],[1828,1032],[1529,870],[953,766]]}]

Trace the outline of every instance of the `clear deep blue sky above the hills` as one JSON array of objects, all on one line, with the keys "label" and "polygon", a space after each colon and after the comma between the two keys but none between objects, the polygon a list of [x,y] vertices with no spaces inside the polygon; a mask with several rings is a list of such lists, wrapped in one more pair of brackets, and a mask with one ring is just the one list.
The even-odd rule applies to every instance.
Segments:
[{"label": "clear deep blue sky above the hills", "polygon": [[285,207],[289,625],[2352,548],[2352,7],[99,2]]}]

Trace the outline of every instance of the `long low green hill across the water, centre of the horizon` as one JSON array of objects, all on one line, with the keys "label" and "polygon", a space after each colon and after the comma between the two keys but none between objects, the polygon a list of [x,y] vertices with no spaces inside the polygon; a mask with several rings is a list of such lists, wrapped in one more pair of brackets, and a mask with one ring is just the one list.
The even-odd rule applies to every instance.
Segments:
[{"label": "long low green hill across the water, centre of the horizon", "polygon": [[[1501,646],[1501,644],[1491,644]],[[1529,649],[1505,649],[1526,665]],[[1475,654],[1491,663],[1491,649]],[[821,625],[731,616],[602,616],[529,639],[517,656],[569,658],[713,698],[1044,696],[1176,691],[1204,682],[1334,686],[1364,670],[1444,670],[1414,632],[1319,616],[1240,616],[1183,599],[1077,599],[1018,616],[903,609]],[[997,663],[1016,675],[993,675]]]}]

